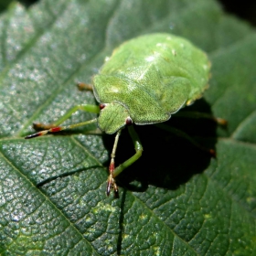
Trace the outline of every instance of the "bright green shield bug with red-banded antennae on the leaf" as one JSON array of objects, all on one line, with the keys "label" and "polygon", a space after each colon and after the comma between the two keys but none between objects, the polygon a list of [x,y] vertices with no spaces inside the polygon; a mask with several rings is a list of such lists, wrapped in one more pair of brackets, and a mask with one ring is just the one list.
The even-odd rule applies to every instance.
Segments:
[{"label": "bright green shield bug with red-banded antennae on the leaf", "polygon": [[[99,74],[92,78],[98,105],[78,105],[52,124],[36,123],[43,131],[26,139],[56,133],[89,123],[98,123],[101,131],[116,133],[107,195],[112,189],[118,195],[116,176],[132,165],[143,152],[133,124],[162,123],[181,108],[190,105],[208,88],[210,63],[207,55],[182,37],[158,33],[135,37],[112,52]],[[99,117],[83,123],[59,126],[78,110],[99,113]],[[115,167],[114,158],[120,133],[127,126],[135,154]]]}]

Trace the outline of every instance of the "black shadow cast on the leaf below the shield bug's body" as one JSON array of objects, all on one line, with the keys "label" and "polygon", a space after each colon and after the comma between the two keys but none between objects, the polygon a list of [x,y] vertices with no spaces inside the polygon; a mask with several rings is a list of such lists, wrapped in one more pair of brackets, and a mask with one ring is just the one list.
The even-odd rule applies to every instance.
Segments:
[{"label": "black shadow cast on the leaf below the shield bug's body", "polygon": [[[185,110],[211,114],[208,102],[204,99],[196,101],[181,112]],[[203,147],[215,150],[218,124],[212,120],[176,117],[174,114],[166,124],[187,133]],[[212,155],[155,125],[135,125],[135,130],[144,146],[144,153],[137,162],[118,176],[121,187],[137,192],[145,191],[148,185],[176,189],[195,174],[202,173],[210,163]],[[104,136],[104,142],[111,152],[110,136]],[[117,148],[116,165],[123,163],[133,154],[132,140],[127,129],[124,129]],[[139,181],[140,185],[133,185],[134,180]]]}]

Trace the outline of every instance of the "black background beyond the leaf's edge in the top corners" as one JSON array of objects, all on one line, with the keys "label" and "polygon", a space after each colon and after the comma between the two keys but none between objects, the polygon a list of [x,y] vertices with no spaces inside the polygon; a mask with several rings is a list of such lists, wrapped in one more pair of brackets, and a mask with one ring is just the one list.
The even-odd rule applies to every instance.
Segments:
[{"label": "black background beyond the leaf's edge in the top corners", "polygon": [[[206,0],[207,1],[207,0]],[[241,19],[247,20],[252,26],[256,27],[256,1],[255,0],[218,0],[223,6],[225,12],[238,16]],[[3,12],[7,5],[9,5],[12,0],[0,0],[0,12]],[[33,5],[37,0],[20,0],[22,5]]]}]

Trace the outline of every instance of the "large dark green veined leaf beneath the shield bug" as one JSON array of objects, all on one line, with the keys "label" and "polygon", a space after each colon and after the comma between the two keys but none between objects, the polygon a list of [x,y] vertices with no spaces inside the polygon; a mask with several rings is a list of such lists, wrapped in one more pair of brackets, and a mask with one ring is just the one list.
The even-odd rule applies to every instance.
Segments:
[{"label": "large dark green veined leaf beneath the shield bug", "polygon": [[[25,140],[95,103],[91,82],[124,40],[151,32],[187,37],[208,52],[210,87],[186,111],[225,118],[167,123],[215,148],[210,158],[153,125],[135,127],[144,155],[106,197],[114,137],[95,126]],[[42,0],[0,16],[1,255],[256,254],[256,34],[213,0]],[[94,115],[76,112],[66,123]],[[116,161],[133,155],[124,131]]]}]

